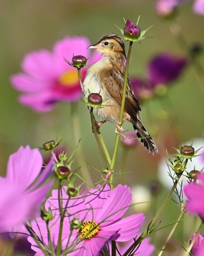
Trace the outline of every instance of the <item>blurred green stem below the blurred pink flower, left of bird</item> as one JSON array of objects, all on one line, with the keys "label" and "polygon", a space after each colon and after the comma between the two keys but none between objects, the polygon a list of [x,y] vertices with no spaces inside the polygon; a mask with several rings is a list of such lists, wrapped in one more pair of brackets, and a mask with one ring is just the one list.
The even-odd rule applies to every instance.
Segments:
[{"label": "blurred green stem below the blurred pink flower, left of bird", "polygon": [[[78,103],[71,103],[71,118],[72,118],[72,133],[75,141],[75,146],[79,143],[81,139],[80,132],[80,122],[78,114]],[[93,186],[92,177],[90,175],[89,169],[87,168],[87,163],[85,160],[85,155],[83,154],[82,144],[80,143],[78,149],[76,150],[76,156],[78,164],[83,168],[80,168],[80,174],[85,181],[88,181],[90,186]]]}]

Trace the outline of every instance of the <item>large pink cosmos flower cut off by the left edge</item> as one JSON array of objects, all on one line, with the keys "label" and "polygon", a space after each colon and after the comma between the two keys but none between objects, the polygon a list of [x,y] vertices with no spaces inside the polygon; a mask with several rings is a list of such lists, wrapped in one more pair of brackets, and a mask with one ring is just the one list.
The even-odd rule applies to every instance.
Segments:
[{"label": "large pink cosmos flower cut off by the left edge", "polygon": [[37,149],[31,150],[29,146],[20,147],[10,155],[6,177],[0,177],[1,233],[40,216],[41,203],[52,182],[40,185],[51,174],[53,161],[43,171],[42,165],[40,152]]}]

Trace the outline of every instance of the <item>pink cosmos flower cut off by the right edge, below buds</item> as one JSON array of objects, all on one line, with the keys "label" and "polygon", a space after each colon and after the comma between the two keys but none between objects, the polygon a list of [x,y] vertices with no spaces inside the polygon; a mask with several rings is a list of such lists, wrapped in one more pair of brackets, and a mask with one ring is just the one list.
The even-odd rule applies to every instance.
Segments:
[{"label": "pink cosmos flower cut off by the right edge, below buds", "polygon": [[188,198],[186,208],[189,213],[198,214],[204,220],[204,173],[198,176],[197,182],[185,185],[184,193]]}]

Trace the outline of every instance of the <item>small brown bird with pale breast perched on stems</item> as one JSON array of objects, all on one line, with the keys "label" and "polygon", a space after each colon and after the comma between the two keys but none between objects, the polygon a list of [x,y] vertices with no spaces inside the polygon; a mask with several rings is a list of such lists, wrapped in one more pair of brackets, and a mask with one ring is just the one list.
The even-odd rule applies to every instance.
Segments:
[{"label": "small brown bird with pale breast perched on stems", "polygon": [[[122,93],[125,77],[125,44],[117,34],[107,34],[89,49],[97,49],[103,57],[87,71],[83,82],[83,95],[100,93],[105,102],[104,108],[94,109],[94,114],[104,122],[119,122]],[[143,146],[152,154],[157,154],[157,146],[143,125],[140,116],[139,101],[135,97],[131,82],[128,79],[123,122],[129,120]]]}]

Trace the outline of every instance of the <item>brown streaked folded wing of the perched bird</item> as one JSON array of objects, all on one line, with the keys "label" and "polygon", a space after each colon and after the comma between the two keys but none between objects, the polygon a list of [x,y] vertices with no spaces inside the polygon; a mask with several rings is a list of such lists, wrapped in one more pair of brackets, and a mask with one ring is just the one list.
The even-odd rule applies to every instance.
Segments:
[{"label": "brown streaked folded wing of the perched bird", "polygon": [[[104,74],[102,73],[100,78],[103,81],[104,90],[121,106],[122,92],[124,88],[124,70],[115,71],[112,69],[108,72],[108,74],[107,72]],[[139,101],[135,97],[131,82],[128,79],[125,98],[125,112],[135,119],[139,110],[141,110]]]}]

